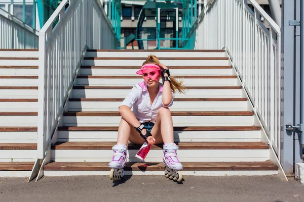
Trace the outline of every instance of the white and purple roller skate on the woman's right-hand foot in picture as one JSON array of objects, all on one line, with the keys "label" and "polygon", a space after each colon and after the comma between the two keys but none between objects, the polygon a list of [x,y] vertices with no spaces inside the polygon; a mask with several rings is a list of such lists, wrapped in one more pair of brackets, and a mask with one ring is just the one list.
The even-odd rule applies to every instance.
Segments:
[{"label": "white and purple roller skate on the woman's right-hand foot in picture", "polygon": [[178,146],[175,143],[164,144],[163,161],[165,164],[165,176],[174,181],[181,182],[182,164],[178,161],[176,151]]}]

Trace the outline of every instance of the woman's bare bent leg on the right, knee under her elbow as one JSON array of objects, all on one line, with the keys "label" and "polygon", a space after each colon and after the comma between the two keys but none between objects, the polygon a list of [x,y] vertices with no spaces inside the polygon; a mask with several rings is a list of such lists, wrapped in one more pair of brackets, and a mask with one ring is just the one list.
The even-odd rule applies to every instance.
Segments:
[{"label": "woman's bare bent leg on the right, knee under her elbow", "polygon": [[173,143],[173,121],[168,108],[161,107],[158,110],[157,119],[151,130],[151,134],[156,139],[155,144]]}]

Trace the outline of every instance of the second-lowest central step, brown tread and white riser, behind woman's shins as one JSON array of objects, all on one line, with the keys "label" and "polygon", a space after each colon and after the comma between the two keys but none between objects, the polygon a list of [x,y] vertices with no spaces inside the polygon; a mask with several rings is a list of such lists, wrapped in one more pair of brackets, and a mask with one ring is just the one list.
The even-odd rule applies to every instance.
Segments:
[{"label": "second-lowest central step, brown tread and white riser, behind woman's shins", "polygon": [[[52,145],[51,161],[108,162],[113,155],[108,142],[57,142]],[[175,142],[181,162],[251,162],[269,160],[269,145],[264,142]],[[139,162],[135,155],[141,145],[128,144],[128,162]],[[154,145],[145,162],[161,162],[163,144]]]}]

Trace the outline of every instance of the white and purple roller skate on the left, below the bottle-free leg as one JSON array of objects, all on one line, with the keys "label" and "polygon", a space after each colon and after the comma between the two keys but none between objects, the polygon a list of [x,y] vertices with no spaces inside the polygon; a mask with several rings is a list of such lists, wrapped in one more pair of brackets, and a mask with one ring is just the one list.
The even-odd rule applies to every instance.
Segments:
[{"label": "white and purple roller skate on the left, below the bottle-free leg", "polygon": [[111,168],[110,180],[121,180],[124,176],[124,167],[127,162],[127,146],[125,144],[116,144],[112,147],[113,156],[108,167]]}]

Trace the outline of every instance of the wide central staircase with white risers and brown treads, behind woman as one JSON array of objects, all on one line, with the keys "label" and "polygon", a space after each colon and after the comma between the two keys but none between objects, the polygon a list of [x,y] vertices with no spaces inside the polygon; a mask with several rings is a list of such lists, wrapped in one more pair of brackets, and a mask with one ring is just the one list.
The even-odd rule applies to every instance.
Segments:
[{"label": "wide central staircase with white risers and brown treads, behind woman", "polygon": [[[151,51],[89,50],[68,99],[51,147],[46,176],[108,175],[116,144],[118,106]],[[155,51],[170,73],[184,78],[186,94],[175,94],[170,108],[174,141],[185,175],[271,175],[271,149],[252,111],[245,90],[223,51]],[[25,97],[23,97],[25,98]],[[26,97],[33,98],[33,97]],[[19,125],[20,126],[20,125]],[[31,126],[34,126],[32,124]],[[6,133],[8,134],[8,133]],[[162,145],[155,145],[145,163],[128,145],[126,174],[164,174]]]}]

